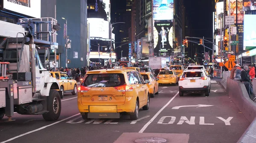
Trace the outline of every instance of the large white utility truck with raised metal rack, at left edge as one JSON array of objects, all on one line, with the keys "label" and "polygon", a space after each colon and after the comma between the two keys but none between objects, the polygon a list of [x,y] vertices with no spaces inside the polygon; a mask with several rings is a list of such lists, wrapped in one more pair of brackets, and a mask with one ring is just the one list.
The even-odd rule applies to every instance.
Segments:
[{"label": "large white utility truck with raised metal rack, at left edge", "polygon": [[[58,46],[55,33],[60,27],[53,18],[42,19],[20,19],[18,24],[0,21],[0,120],[5,115],[12,121],[14,112],[43,115],[46,121],[60,116],[60,85],[45,68],[49,60],[42,66],[37,50]],[[47,31],[42,31],[43,24]],[[40,39],[45,35],[47,40]]]}]

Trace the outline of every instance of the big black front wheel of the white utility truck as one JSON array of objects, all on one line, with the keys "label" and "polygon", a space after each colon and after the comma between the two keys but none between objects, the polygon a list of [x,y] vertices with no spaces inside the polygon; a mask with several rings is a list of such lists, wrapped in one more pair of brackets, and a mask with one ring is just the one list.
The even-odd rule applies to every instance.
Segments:
[{"label": "big black front wheel of the white utility truck", "polygon": [[50,90],[47,97],[47,111],[43,114],[46,121],[56,121],[61,115],[61,97],[57,90]]}]

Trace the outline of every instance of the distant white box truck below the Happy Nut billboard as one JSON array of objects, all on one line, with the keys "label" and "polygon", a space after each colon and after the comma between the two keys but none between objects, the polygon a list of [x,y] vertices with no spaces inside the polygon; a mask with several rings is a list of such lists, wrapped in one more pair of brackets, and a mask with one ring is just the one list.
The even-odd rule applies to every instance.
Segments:
[{"label": "distant white box truck below the Happy Nut billboard", "polygon": [[148,66],[153,70],[160,70],[161,68],[167,67],[166,58],[164,57],[149,57],[148,58]]}]

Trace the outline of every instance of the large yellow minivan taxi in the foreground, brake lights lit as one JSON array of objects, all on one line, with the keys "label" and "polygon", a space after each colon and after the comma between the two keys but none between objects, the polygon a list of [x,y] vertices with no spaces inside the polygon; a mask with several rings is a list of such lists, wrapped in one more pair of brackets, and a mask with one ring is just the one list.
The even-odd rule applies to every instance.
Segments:
[{"label": "large yellow minivan taxi in the foreground, brake lights lit", "polygon": [[78,87],[78,109],[87,118],[120,118],[129,113],[137,120],[139,109],[149,109],[149,81],[137,70],[91,70]]}]

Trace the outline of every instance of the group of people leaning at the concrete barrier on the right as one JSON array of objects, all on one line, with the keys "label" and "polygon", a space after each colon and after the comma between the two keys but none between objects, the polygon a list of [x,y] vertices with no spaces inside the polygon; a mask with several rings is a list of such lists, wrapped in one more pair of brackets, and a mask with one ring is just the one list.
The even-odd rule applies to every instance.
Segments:
[{"label": "group of people leaning at the concrete barrier on the right", "polygon": [[245,65],[241,67],[239,64],[236,64],[235,67],[231,70],[230,79],[241,81],[246,87],[248,95],[253,97],[253,78],[255,78],[255,67],[251,64],[248,66]]}]

